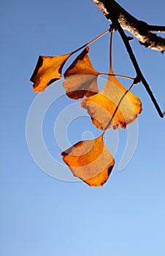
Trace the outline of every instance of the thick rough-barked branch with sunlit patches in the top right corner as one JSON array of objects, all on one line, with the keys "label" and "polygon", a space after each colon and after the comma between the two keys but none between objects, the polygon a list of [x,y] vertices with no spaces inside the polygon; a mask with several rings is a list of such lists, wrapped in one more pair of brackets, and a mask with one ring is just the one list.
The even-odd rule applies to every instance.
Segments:
[{"label": "thick rough-barked branch with sunlit patches in the top right corner", "polygon": [[118,23],[120,23],[122,29],[126,29],[133,34],[134,37],[137,37],[141,45],[164,53],[165,39],[158,37],[151,31],[164,32],[165,26],[148,25],[142,20],[137,20],[137,18],[134,18],[134,16],[124,10],[115,0],[92,1],[99,7],[108,20],[112,21],[112,17],[118,19]]}]

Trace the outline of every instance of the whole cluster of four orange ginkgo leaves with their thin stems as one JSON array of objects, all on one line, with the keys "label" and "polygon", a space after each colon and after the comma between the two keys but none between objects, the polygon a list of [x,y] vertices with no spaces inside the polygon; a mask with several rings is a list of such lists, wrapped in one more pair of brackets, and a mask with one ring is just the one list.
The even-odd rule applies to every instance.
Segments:
[{"label": "whole cluster of four orange ginkgo leaves with their thin stems", "polygon": [[[89,45],[101,35],[111,32],[110,37],[110,73],[104,88],[99,91],[98,77],[100,73],[94,69],[88,56]],[[111,127],[126,128],[137,119],[142,111],[139,97],[131,93],[134,86],[127,90],[116,78],[112,70],[112,30],[108,29],[81,48],[62,56],[39,56],[37,66],[31,76],[35,92],[41,93],[47,86],[61,79],[64,64],[72,54],[82,49],[82,52],[64,72],[64,89],[70,99],[82,99],[81,107],[88,111],[96,128],[103,130],[102,134],[93,140],[80,141],[61,153],[64,162],[69,166],[74,176],[85,181],[92,187],[102,186],[109,178],[115,159],[104,145],[104,134]],[[124,76],[123,76],[124,77]]]}]

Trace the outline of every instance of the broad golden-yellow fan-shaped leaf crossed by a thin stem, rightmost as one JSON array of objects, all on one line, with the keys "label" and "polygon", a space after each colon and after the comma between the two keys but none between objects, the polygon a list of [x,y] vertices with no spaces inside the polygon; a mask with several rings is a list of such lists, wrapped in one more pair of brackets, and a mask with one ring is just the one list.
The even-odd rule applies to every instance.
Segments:
[{"label": "broad golden-yellow fan-shaped leaf crossed by a thin stem, rightmost", "polygon": [[88,110],[93,124],[99,129],[126,128],[142,111],[140,99],[127,91],[115,76],[109,77],[99,94],[83,99],[81,106]]}]

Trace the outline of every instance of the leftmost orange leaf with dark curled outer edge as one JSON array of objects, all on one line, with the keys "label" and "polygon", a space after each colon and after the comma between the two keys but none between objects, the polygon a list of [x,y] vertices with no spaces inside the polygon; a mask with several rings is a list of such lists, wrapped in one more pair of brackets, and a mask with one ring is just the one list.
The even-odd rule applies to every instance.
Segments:
[{"label": "leftmost orange leaf with dark curled outer edge", "polygon": [[61,79],[61,70],[66,60],[72,53],[68,53],[61,56],[39,56],[37,66],[34,69],[34,73],[31,76],[31,82],[34,83],[34,91],[42,92],[47,86]]}]

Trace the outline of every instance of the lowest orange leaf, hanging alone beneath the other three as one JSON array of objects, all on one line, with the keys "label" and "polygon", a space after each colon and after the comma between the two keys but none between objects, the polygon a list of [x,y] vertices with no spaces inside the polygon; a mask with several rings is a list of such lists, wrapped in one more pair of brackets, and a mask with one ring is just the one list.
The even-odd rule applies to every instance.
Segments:
[{"label": "lowest orange leaf, hanging alone beneath the other three", "polygon": [[103,135],[80,141],[61,156],[73,175],[91,187],[103,186],[115,165],[115,159],[104,145]]}]

